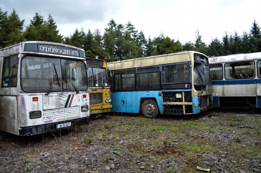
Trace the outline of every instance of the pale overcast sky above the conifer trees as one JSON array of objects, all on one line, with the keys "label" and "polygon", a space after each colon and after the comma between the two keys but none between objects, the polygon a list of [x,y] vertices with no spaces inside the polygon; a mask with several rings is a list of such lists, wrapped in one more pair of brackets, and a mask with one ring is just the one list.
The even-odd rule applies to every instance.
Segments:
[{"label": "pale overcast sky above the conifer trees", "polygon": [[146,39],[162,32],[182,44],[195,43],[198,28],[201,40],[209,44],[212,38],[222,40],[225,32],[249,33],[254,19],[261,25],[260,0],[1,0],[0,7],[8,15],[16,10],[25,25],[36,12],[45,20],[51,14],[63,36],[76,28],[86,33],[98,28],[103,34],[114,19],[123,25],[130,21]]}]

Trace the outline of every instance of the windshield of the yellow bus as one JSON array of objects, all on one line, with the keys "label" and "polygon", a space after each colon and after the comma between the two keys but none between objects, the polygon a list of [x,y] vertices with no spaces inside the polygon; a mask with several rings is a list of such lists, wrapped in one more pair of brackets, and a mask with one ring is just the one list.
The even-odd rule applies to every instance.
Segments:
[{"label": "windshield of the yellow bus", "polygon": [[89,87],[107,87],[107,70],[103,68],[87,67]]}]

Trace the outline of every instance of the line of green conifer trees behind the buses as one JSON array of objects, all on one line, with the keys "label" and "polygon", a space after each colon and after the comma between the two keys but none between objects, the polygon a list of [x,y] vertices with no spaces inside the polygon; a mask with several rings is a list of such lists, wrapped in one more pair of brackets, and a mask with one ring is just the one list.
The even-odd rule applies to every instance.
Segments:
[{"label": "line of green conifer trees behind the buses", "polygon": [[261,32],[258,23],[253,21],[249,33],[239,35],[236,31],[219,40],[217,37],[207,45],[201,40],[197,29],[195,43],[191,41],[181,44],[161,33],[158,37],[145,38],[142,30],[138,31],[130,21],[117,24],[111,19],[102,34],[99,29],[92,32],[88,29],[75,29],[69,36],[59,34],[58,26],[49,14],[47,21],[39,13],[35,13],[30,24],[24,26],[15,10],[9,15],[0,7],[0,48],[22,41],[51,41],[69,44],[85,50],[87,57],[99,58],[107,62],[156,56],[180,51],[197,51],[207,56],[225,56],[237,53],[261,52]]}]

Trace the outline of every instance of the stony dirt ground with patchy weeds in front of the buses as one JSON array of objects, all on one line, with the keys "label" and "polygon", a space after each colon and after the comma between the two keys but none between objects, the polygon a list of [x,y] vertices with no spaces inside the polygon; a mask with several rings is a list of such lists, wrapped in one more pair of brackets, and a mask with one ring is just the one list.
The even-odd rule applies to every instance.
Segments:
[{"label": "stony dirt ground with patchy weeds in front of the buses", "polygon": [[0,132],[0,172],[261,172],[261,114],[112,114],[37,136]]}]

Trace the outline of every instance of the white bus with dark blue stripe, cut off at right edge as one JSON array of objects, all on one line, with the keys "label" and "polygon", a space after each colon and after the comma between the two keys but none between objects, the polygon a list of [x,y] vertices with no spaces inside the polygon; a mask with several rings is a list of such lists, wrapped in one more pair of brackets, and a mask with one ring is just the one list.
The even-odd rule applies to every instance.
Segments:
[{"label": "white bus with dark blue stripe, cut off at right edge", "polygon": [[261,52],[210,57],[213,107],[261,108]]}]

